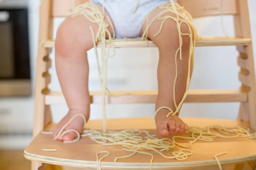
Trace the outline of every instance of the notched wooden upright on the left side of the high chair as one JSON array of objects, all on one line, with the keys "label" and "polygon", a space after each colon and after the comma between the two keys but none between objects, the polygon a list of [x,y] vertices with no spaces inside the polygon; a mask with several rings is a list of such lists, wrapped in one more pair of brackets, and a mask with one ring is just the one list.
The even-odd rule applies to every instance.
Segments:
[{"label": "notched wooden upright on the left side of the high chair", "polygon": [[[44,0],[40,6],[40,29],[39,29],[39,44],[48,39],[52,39],[53,30],[53,18],[51,16],[51,6],[52,0]],[[47,89],[49,82],[47,80],[47,64],[50,62],[48,56],[48,51],[44,47],[38,48],[38,57],[36,62],[36,85],[35,85],[35,114],[34,114],[34,126],[33,126],[33,138],[44,129],[45,123],[49,123],[51,120],[49,116],[49,106],[44,104],[44,94],[43,89]],[[46,72],[45,72],[46,71]],[[42,163],[32,161],[32,170],[41,169]]]}]

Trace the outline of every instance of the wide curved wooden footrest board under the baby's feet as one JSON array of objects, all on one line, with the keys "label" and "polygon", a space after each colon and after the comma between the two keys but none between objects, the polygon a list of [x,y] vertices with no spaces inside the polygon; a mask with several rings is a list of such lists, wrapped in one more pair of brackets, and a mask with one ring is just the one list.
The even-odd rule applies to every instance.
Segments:
[{"label": "wide curved wooden footrest board under the baby's feet", "polygon": [[[123,130],[138,128],[140,130],[149,130],[151,134],[157,134],[155,125],[151,124],[152,118],[132,118],[132,119],[108,119],[108,130]],[[240,122],[223,119],[200,119],[200,118],[183,118],[189,126],[207,127],[209,125],[220,125],[225,127],[250,127],[249,122]],[[142,123],[143,122],[143,123]],[[55,125],[51,124],[45,130],[50,130]],[[120,129],[122,127],[122,129]],[[91,120],[87,127],[93,130],[102,129],[101,120]],[[251,132],[254,132],[253,130]],[[158,135],[157,135],[158,136]],[[160,137],[160,136],[158,136]],[[182,143],[187,144],[188,140]],[[47,152],[42,149],[57,149],[57,151]],[[163,152],[166,156],[172,156],[172,152],[180,150],[181,147],[175,146],[171,151]],[[198,141],[192,144],[193,154],[186,161],[177,161],[176,159],[165,159],[157,153],[153,153],[153,169],[181,169],[183,167],[218,167],[214,156],[227,151],[227,154],[220,156],[218,159],[221,165],[235,164],[246,161],[256,160],[256,141],[237,137],[235,139],[214,138],[212,142]],[[97,144],[88,137],[81,137],[78,142],[66,143],[55,141],[50,134],[40,133],[31,144],[26,148],[24,155],[26,159],[32,161],[41,161],[47,164],[56,164],[61,166],[96,168],[96,153],[99,151],[109,151],[110,156],[102,160],[103,169],[120,170],[120,169],[149,169],[151,156],[136,153],[134,156],[125,159],[119,159],[113,162],[117,156],[125,156],[131,152],[122,150],[114,146],[103,146]],[[99,154],[99,157],[104,154]]]}]

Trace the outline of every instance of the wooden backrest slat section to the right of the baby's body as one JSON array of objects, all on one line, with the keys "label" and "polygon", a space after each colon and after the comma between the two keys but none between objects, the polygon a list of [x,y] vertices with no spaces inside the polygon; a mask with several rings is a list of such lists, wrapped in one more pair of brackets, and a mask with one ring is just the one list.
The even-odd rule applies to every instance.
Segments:
[{"label": "wooden backrest slat section to the right of the baby's body", "polygon": [[193,18],[239,13],[236,0],[178,0]]}]

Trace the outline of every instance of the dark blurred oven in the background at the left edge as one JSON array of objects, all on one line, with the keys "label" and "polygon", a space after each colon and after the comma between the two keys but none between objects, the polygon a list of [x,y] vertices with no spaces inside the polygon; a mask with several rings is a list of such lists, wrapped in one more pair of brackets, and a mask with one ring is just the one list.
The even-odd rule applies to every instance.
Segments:
[{"label": "dark blurred oven in the background at the left edge", "polygon": [[30,96],[27,8],[0,8],[0,97]]}]

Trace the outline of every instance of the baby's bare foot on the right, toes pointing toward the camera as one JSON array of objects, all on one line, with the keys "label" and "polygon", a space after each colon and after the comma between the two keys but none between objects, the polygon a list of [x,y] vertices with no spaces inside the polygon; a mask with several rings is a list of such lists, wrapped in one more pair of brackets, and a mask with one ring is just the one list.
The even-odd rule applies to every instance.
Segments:
[{"label": "baby's bare foot on the right, toes pointing toward the camera", "polygon": [[179,135],[189,129],[177,115],[166,117],[170,111],[162,109],[155,116],[157,131],[161,136]]}]

